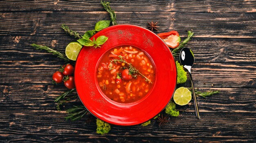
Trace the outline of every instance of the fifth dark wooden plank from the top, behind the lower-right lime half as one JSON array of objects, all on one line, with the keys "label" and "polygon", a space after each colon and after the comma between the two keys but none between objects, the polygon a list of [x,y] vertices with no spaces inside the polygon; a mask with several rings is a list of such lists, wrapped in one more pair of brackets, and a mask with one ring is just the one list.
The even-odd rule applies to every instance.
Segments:
[{"label": "fifth dark wooden plank from the top, behind the lower-right lime half", "polygon": [[[241,112],[256,113],[256,90],[245,88],[200,88],[201,91],[219,90],[211,97],[198,97],[200,112]],[[55,98],[67,89],[63,85],[5,85],[0,86],[0,108],[56,109]],[[80,105],[79,98],[65,104],[65,108]],[[177,110],[194,112],[193,101]]]}]

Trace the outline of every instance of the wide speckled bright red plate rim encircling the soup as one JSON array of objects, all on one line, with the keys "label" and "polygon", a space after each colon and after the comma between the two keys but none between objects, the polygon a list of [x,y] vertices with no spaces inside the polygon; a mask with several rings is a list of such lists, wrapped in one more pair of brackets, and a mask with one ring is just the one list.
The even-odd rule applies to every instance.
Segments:
[{"label": "wide speckled bright red plate rim encircling the soup", "polygon": [[[108,37],[101,48],[83,47],[75,66],[75,84],[79,98],[97,118],[110,124],[130,126],[144,123],[159,114],[171,100],[176,87],[175,60],[167,45],[155,33],[134,25],[105,28],[90,39]],[[114,102],[99,89],[96,73],[101,56],[119,45],[144,50],[155,64],[155,85],[145,98],[129,104]]]}]

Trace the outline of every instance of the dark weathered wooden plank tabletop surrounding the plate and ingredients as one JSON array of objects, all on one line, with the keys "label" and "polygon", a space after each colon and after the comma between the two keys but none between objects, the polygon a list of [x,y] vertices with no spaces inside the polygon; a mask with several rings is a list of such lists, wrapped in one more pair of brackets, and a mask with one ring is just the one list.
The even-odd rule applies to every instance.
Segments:
[{"label": "dark weathered wooden plank tabletop surrounding the plate and ingredients", "polygon": [[[195,32],[188,44],[196,57],[194,85],[221,92],[198,97],[201,119],[191,101],[161,127],[154,120],[146,127],[112,126],[101,136],[85,123],[90,115],[65,121],[54,99],[66,89],[51,79],[63,61],[30,44],[65,52],[74,39],[61,24],[83,33],[108,13],[99,0],[1,0],[0,143],[256,142],[256,0],[111,0],[111,7],[118,24],[154,21],[159,32],[174,29],[182,39]],[[79,101],[65,108],[73,104]]]}]

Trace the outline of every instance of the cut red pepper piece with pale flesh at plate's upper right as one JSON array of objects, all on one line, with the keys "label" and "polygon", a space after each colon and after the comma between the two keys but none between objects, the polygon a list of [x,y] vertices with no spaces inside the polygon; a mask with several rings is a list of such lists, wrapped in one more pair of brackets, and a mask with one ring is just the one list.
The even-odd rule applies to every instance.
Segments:
[{"label": "cut red pepper piece with pale flesh at plate's upper right", "polygon": [[170,31],[157,34],[170,48],[177,48],[180,45],[180,35],[177,31]]}]

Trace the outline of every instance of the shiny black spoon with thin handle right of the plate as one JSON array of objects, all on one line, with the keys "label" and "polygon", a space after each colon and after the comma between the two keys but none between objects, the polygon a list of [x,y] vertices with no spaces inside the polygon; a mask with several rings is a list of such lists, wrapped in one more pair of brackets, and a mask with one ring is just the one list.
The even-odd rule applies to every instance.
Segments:
[{"label": "shiny black spoon with thin handle right of the plate", "polygon": [[195,56],[193,52],[189,48],[183,48],[180,51],[180,63],[183,65],[185,69],[189,71],[189,78],[191,80],[191,89],[193,92],[193,98],[194,98],[194,105],[195,105],[195,114],[198,119],[200,119],[199,110],[198,110],[198,102],[196,101],[195,97],[195,89],[193,85],[193,80],[191,76],[191,67],[194,65],[195,62]]}]

